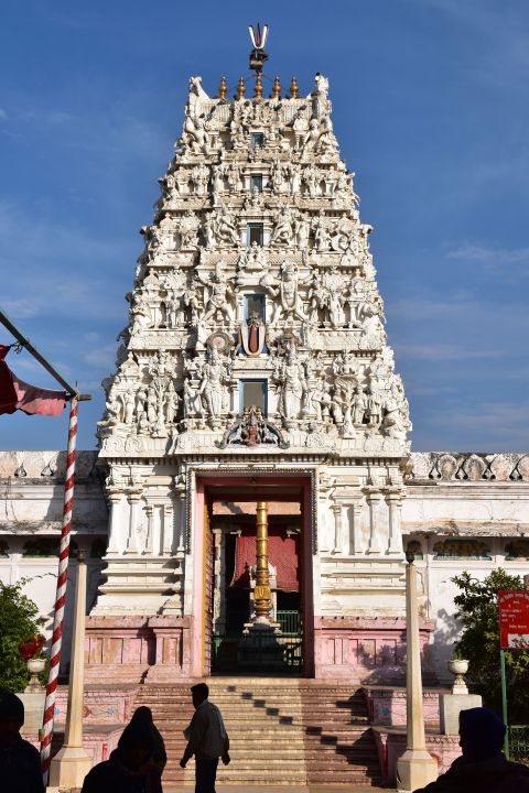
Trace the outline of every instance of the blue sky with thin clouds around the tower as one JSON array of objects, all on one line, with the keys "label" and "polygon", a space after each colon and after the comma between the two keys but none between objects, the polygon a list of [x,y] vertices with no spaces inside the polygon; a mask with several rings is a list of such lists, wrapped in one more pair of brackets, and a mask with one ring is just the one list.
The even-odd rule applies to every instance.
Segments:
[{"label": "blue sky with thin clouds around the tower", "polygon": [[[529,448],[529,6],[526,0],[29,0],[0,31],[0,304],[91,403],[187,79],[267,72],[331,80],[410,400],[415,450]],[[0,329],[0,343],[9,335]],[[26,354],[23,379],[51,385]],[[0,417],[0,447],[57,448],[63,420]]]}]

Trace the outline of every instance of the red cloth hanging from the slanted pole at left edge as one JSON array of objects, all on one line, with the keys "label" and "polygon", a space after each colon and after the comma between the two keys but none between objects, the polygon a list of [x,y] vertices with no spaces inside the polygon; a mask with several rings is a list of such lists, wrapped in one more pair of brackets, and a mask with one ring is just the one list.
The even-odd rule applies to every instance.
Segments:
[{"label": "red cloth hanging from the slanted pole at left edge", "polygon": [[40,389],[20,380],[6,363],[9,350],[10,347],[0,345],[0,414],[21,410],[28,415],[61,415],[66,393]]}]

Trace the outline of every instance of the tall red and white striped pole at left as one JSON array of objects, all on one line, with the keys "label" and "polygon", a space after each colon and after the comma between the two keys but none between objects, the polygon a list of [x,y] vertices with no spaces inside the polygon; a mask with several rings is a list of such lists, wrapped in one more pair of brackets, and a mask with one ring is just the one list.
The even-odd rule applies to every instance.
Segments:
[{"label": "tall red and white striped pole at left", "polygon": [[69,405],[68,450],[66,454],[66,479],[64,482],[63,528],[61,531],[61,551],[58,555],[57,591],[53,618],[52,650],[50,655],[50,675],[46,686],[46,703],[41,731],[41,768],[44,784],[47,783],[53,739],[53,721],[55,717],[55,699],[57,696],[58,665],[61,645],[63,643],[64,606],[66,601],[66,584],[68,578],[69,534],[72,531],[72,509],[74,506],[75,479],[75,445],[77,441],[77,403],[73,397]]}]

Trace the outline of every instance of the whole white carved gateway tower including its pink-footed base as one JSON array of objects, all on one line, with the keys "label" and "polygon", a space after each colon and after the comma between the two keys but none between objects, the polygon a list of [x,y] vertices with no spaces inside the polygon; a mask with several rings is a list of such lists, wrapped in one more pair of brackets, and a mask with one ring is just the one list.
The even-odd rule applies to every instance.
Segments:
[{"label": "whole white carved gateway tower including its pink-footed base", "polygon": [[[110,523],[88,676],[208,675],[223,636],[237,633],[230,610],[251,610],[251,560],[246,594],[235,598],[233,585],[266,500],[276,617],[281,598],[298,611],[299,671],[360,680],[377,666],[390,677],[402,648],[411,424],[371,227],[323,75],[305,97],[295,78],[264,97],[259,70],[252,97],[242,78],[226,94],[224,78],[215,98],[190,80],[104,383]],[[289,553],[290,589],[280,582]]]}]

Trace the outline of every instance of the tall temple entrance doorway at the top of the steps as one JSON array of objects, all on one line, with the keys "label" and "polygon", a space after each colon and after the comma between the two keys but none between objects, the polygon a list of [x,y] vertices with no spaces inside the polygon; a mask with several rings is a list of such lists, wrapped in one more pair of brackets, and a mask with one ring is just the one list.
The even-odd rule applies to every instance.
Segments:
[{"label": "tall temple entrance doorway at the top of the steps", "polygon": [[[204,674],[312,675],[311,484],[277,476],[204,480]],[[266,636],[255,629],[262,613],[263,503],[273,628]]]}]

